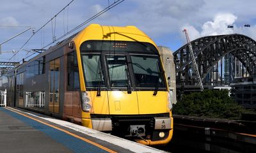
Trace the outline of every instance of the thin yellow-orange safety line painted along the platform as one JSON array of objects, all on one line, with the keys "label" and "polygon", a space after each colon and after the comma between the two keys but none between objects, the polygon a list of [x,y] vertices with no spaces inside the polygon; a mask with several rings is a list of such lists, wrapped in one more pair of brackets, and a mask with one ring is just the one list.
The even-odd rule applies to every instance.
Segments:
[{"label": "thin yellow-orange safety line painted along the platform", "polygon": [[[6,108],[6,109],[7,109],[7,110],[10,110],[10,111],[12,111],[12,112],[15,112],[15,113],[19,113],[19,112],[14,111],[13,108],[12,108],[13,110],[11,110],[10,108]],[[98,143],[92,142],[92,141],[90,141],[90,140],[88,140],[88,139],[86,139],[86,138],[83,138],[83,137],[81,137],[81,136],[78,136],[78,135],[75,135],[75,134],[73,134],[73,133],[70,133],[70,132],[68,132],[68,131],[65,130],[65,129],[61,129],[61,128],[58,128],[58,127],[56,127],[56,126],[52,126],[51,124],[48,124],[48,123],[43,122],[43,121],[41,121],[41,120],[35,119],[35,118],[30,117],[30,116],[28,116],[28,115],[25,115],[25,114],[23,114],[23,113],[19,113],[19,114],[20,114],[20,115],[23,115],[24,117],[28,117],[29,119],[36,120],[37,122],[40,122],[40,123],[45,124],[45,125],[47,125],[47,126],[51,126],[51,128],[54,128],[54,129],[58,129],[58,130],[60,130],[60,131],[63,131],[63,132],[65,132],[65,133],[67,133],[68,135],[72,135],[72,136],[74,136],[74,137],[76,137],[76,138],[79,138],[79,139],[83,140],[84,142],[91,143],[92,145],[95,145],[95,146],[99,147],[100,149],[106,150],[106,151],[111,152],[111,153],[116,153],[115,151],[113,151],[113,150],[111,150],[111,149],[108,149],[108,148],[106,148],[106,147],[103,147],[102,145],[99,145]]]}]

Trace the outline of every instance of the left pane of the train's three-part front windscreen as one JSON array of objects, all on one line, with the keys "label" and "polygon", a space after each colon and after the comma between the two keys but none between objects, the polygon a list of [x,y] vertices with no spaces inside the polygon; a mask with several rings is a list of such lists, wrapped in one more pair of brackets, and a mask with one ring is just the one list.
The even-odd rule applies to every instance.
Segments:
[{"label": "left pane of the train's three-part front windscreen", "polygon": [[[86,87],[105,87],[104,76],[100,66],[100,55],[82,55]],[[78,77],[78,76],[77,76]]]}]

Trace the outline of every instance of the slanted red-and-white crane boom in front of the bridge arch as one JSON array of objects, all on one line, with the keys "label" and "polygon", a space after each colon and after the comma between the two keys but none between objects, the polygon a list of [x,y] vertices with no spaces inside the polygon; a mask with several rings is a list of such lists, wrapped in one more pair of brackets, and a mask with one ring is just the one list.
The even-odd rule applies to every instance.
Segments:
[{"label": "slanted red-and-white crane boom in front of the bridge arch", "polygon": [[187,40],[187,43],[188,43],[189,54],[191,55],[191,59],[192,59],[192,69],[196,71],[196,78],[198,79],[201,91],[204,91],[204,85],[202,83],[200,73],[198,71],[198,66],[196,64],[196,59],[195,59],[195,55],[194,55],[194,52],[193,52],[193,48],[192,48],[191,42],[189,40],[188,31],[186,29],[184,29],[183,32],[185,33],[186,40]]}]

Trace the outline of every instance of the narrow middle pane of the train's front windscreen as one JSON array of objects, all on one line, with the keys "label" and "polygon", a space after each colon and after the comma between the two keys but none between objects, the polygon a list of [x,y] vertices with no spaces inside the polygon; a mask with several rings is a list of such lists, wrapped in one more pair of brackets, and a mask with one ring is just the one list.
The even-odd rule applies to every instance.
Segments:
[{"label": "narrow middle pane of the train's front windscreen", "polygon": [[111,87],[127,87],[127,66],[124,55],[107,56]]}]

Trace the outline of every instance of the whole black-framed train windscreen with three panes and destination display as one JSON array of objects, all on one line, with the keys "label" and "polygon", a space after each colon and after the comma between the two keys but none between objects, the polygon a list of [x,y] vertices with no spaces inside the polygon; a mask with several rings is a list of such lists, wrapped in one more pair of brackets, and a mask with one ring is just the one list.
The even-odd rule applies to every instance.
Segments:
[{"label": "whole black-framed train windscreen with three panes and destination display", "polygon": [[150,43],[90,40],[80,51],[86,88],[166,90],[159,53]]}]

